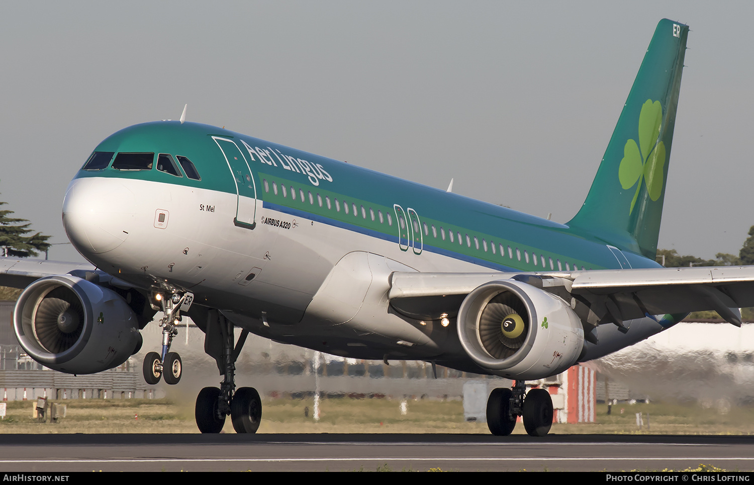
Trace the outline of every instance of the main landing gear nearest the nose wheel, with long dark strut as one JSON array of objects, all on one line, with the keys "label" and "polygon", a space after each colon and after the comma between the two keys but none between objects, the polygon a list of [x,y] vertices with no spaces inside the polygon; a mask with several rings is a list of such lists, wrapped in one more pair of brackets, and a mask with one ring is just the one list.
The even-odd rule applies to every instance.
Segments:
[{"label": "main landing gear nearest the nose wheel, with long dark strut", "polygon": [[196,398],[195,417],[202,433],[219,433],[230,415],[237,433],[256,433],[262,421],[262,399],[255,388],[235,388],[235,361],[249,335],[241,332],[233,342],[233,324],[217,310],[207,315],[207,335],[204,350],[215,358],[217,368],[225,378],[220,388],[203,388]]}]

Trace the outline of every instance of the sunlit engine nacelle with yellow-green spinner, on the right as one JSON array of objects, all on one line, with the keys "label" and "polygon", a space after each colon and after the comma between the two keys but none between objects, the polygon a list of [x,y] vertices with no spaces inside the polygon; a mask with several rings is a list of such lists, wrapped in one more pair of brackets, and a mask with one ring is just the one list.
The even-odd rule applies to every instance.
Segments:
[{"label": "sunlit engine nacelle with yellow-green spinner, on the right", "polygon": [[562,299],[515,280],[490,281],[458,311],[458,338],[480,367],[508,379],[543,379],[576,363],[584,327]]}]

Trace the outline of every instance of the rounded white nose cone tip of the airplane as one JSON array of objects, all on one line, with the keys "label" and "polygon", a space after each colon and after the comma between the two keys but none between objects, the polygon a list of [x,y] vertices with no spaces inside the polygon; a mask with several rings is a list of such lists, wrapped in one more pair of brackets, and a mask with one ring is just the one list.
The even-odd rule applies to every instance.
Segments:
[{"label": "rounded white nose cone tip of the airplane", "polygon": [[123,244],[133,226],[136,198],[115,179],[73,180],[63,201],[63,226],[81,254],[107,253]]}]

